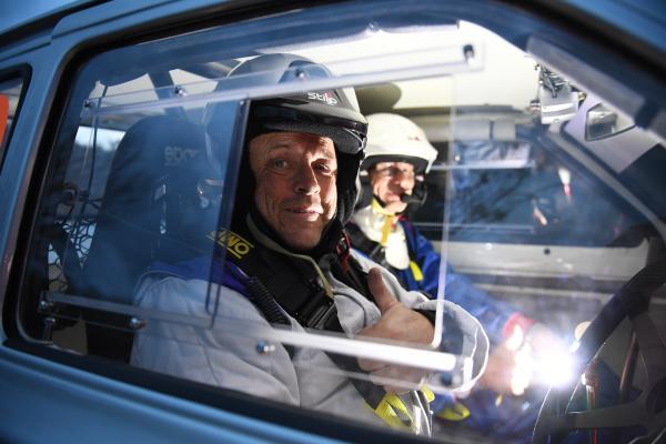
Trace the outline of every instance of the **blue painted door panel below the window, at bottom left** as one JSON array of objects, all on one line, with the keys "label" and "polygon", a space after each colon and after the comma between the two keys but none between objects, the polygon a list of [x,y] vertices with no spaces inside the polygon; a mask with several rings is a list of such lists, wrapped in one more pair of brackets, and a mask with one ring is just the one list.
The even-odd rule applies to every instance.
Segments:
[{"label": "blue painted door panel below the window, at bottom left", "polygon": [[33,443],[335,443],[0,347],[0,438]]}]

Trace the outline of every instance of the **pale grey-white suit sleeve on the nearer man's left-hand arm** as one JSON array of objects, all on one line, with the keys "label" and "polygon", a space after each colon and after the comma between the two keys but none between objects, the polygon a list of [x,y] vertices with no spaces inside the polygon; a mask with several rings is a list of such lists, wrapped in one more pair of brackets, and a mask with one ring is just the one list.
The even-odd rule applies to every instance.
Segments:
[{"label": "pale grey-white suit sleeve on the nearer man's left-hand arm", "polygon": [[[178,313],[183,320],[211,320],[205,309],[208,284],[198,280],[167,278],[144,286],[137,303],[143,309]],[[212,292],[215,294],[215,291]],[[210,324],[149,323],[138,334],[132,364],[210,385],[245,392],[299,405],[294,365],[285,349],[256,352],[252,325],[269,326],[250,301],[221,286],[218,314]],[[238,331],[234,325],[245,325]]]}]

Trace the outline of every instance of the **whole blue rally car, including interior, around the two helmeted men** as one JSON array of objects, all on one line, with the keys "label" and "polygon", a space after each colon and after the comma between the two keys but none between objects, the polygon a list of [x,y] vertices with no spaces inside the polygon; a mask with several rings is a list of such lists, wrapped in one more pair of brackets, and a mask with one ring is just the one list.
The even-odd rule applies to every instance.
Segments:
[{"label": "whole blue rally car, including interior, around the two helmeted men", "polygon": [[[665,6],[56,3],[0,7],[1,442],[666,441]],[[316,64],[243,71],[281,54]],[[438,151],[413,214],[448,264],[430,346],[255,322],[220,291],[253,248],[231,229],[253,103],[331,91]],[[563,345],[509,332],[524,392],[490,390],[484,333],[451,345],[452,269]],[[158,278],[202,297],[149,300]],[[391,391],[394,421],[332,401],[350,396],[322,379],[410,383],[359,360],[427,371],[427,430]]]}]

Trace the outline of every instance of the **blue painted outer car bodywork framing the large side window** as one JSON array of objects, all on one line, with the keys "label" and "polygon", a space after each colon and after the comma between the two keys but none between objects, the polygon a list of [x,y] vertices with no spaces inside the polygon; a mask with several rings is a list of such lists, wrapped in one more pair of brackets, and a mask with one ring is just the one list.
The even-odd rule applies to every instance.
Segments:
[{"label": "blue painted outer car bodywork framing the large side window", "polygon": [[[644,6],[642,6],[644,4]],[[527,36],[561,38],[571,49],[581,41],[606,48],[626,63],[625,71],[607,72],[608,89],[628,84],[643,108],[623,103],[624,91],[610,91],[626,105],[636,124],[662,137],[666,133],[666,97],[663,72],[666,58],[666,16],[659,2],[634,6],[610,1],[567,1],[523,4],[515,1],[440,2],[283,2],[188,1],[72,1],[60,7],[12,4],[0,13],[0,82],[23,79],[20,104],[4,134],[0,151],[0,441],[142,443],[313,443],[422,442],[391,431],[350,424],[340,418],[278,403],[215,391],[203,384],[178,381],[140,369],[113,365],[77,353],[52,350],[39,340],[27,341],[20,313],[20,285],[28,268],[27,244],[36,220],[43,174],[51,160],[56,123],[69,100],[68,84],[98,52],[275,14],[283,26],[299,20],[315,34],[324,16],[376,10],[391,26],[400,17],[392,8],[414,8],[422,24],[446,18],[476,20],[525,49]],[[8,9],[4,4],[0,8]],[[350,12],[352,11],[352,12]],[[371,11],[371,12],[369,12]],[[658,13],[657,13],[658,12]],[[361,16],[359,16],[361,17]],[[514,20],[509,20],[511,18]],[[507,19],[508,18],[508,19]],[[383,22],[382,22],[383,23]],[[337,23],[326,37],[356,23]],[[628,37],[622,39],[620,37]],[[614,59],[614,60],[615,60]],[[120,67],[122,69],[122,67]],[[603,68],[599,68],[603,69]],[[662,78],[655,75],[660,73]],[[636,80],[637,79],[637,80]],[[658,88],[654,88],[657,85]],[[665,190],[656,192],[664,193]],[[455,436],[443,437],[456,442]]]}]

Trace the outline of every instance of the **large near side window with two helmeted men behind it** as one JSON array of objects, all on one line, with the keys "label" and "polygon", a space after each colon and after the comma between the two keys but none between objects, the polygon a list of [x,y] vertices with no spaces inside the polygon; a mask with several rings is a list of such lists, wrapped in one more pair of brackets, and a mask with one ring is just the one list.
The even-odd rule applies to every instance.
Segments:
[{"label": "large near side window with two helmeted men behind it", "polygon": [[405,433],[526,441],[663,214],[566,134],[592,95],[488,30],[281,20],[84,63],[23,331]]}]

